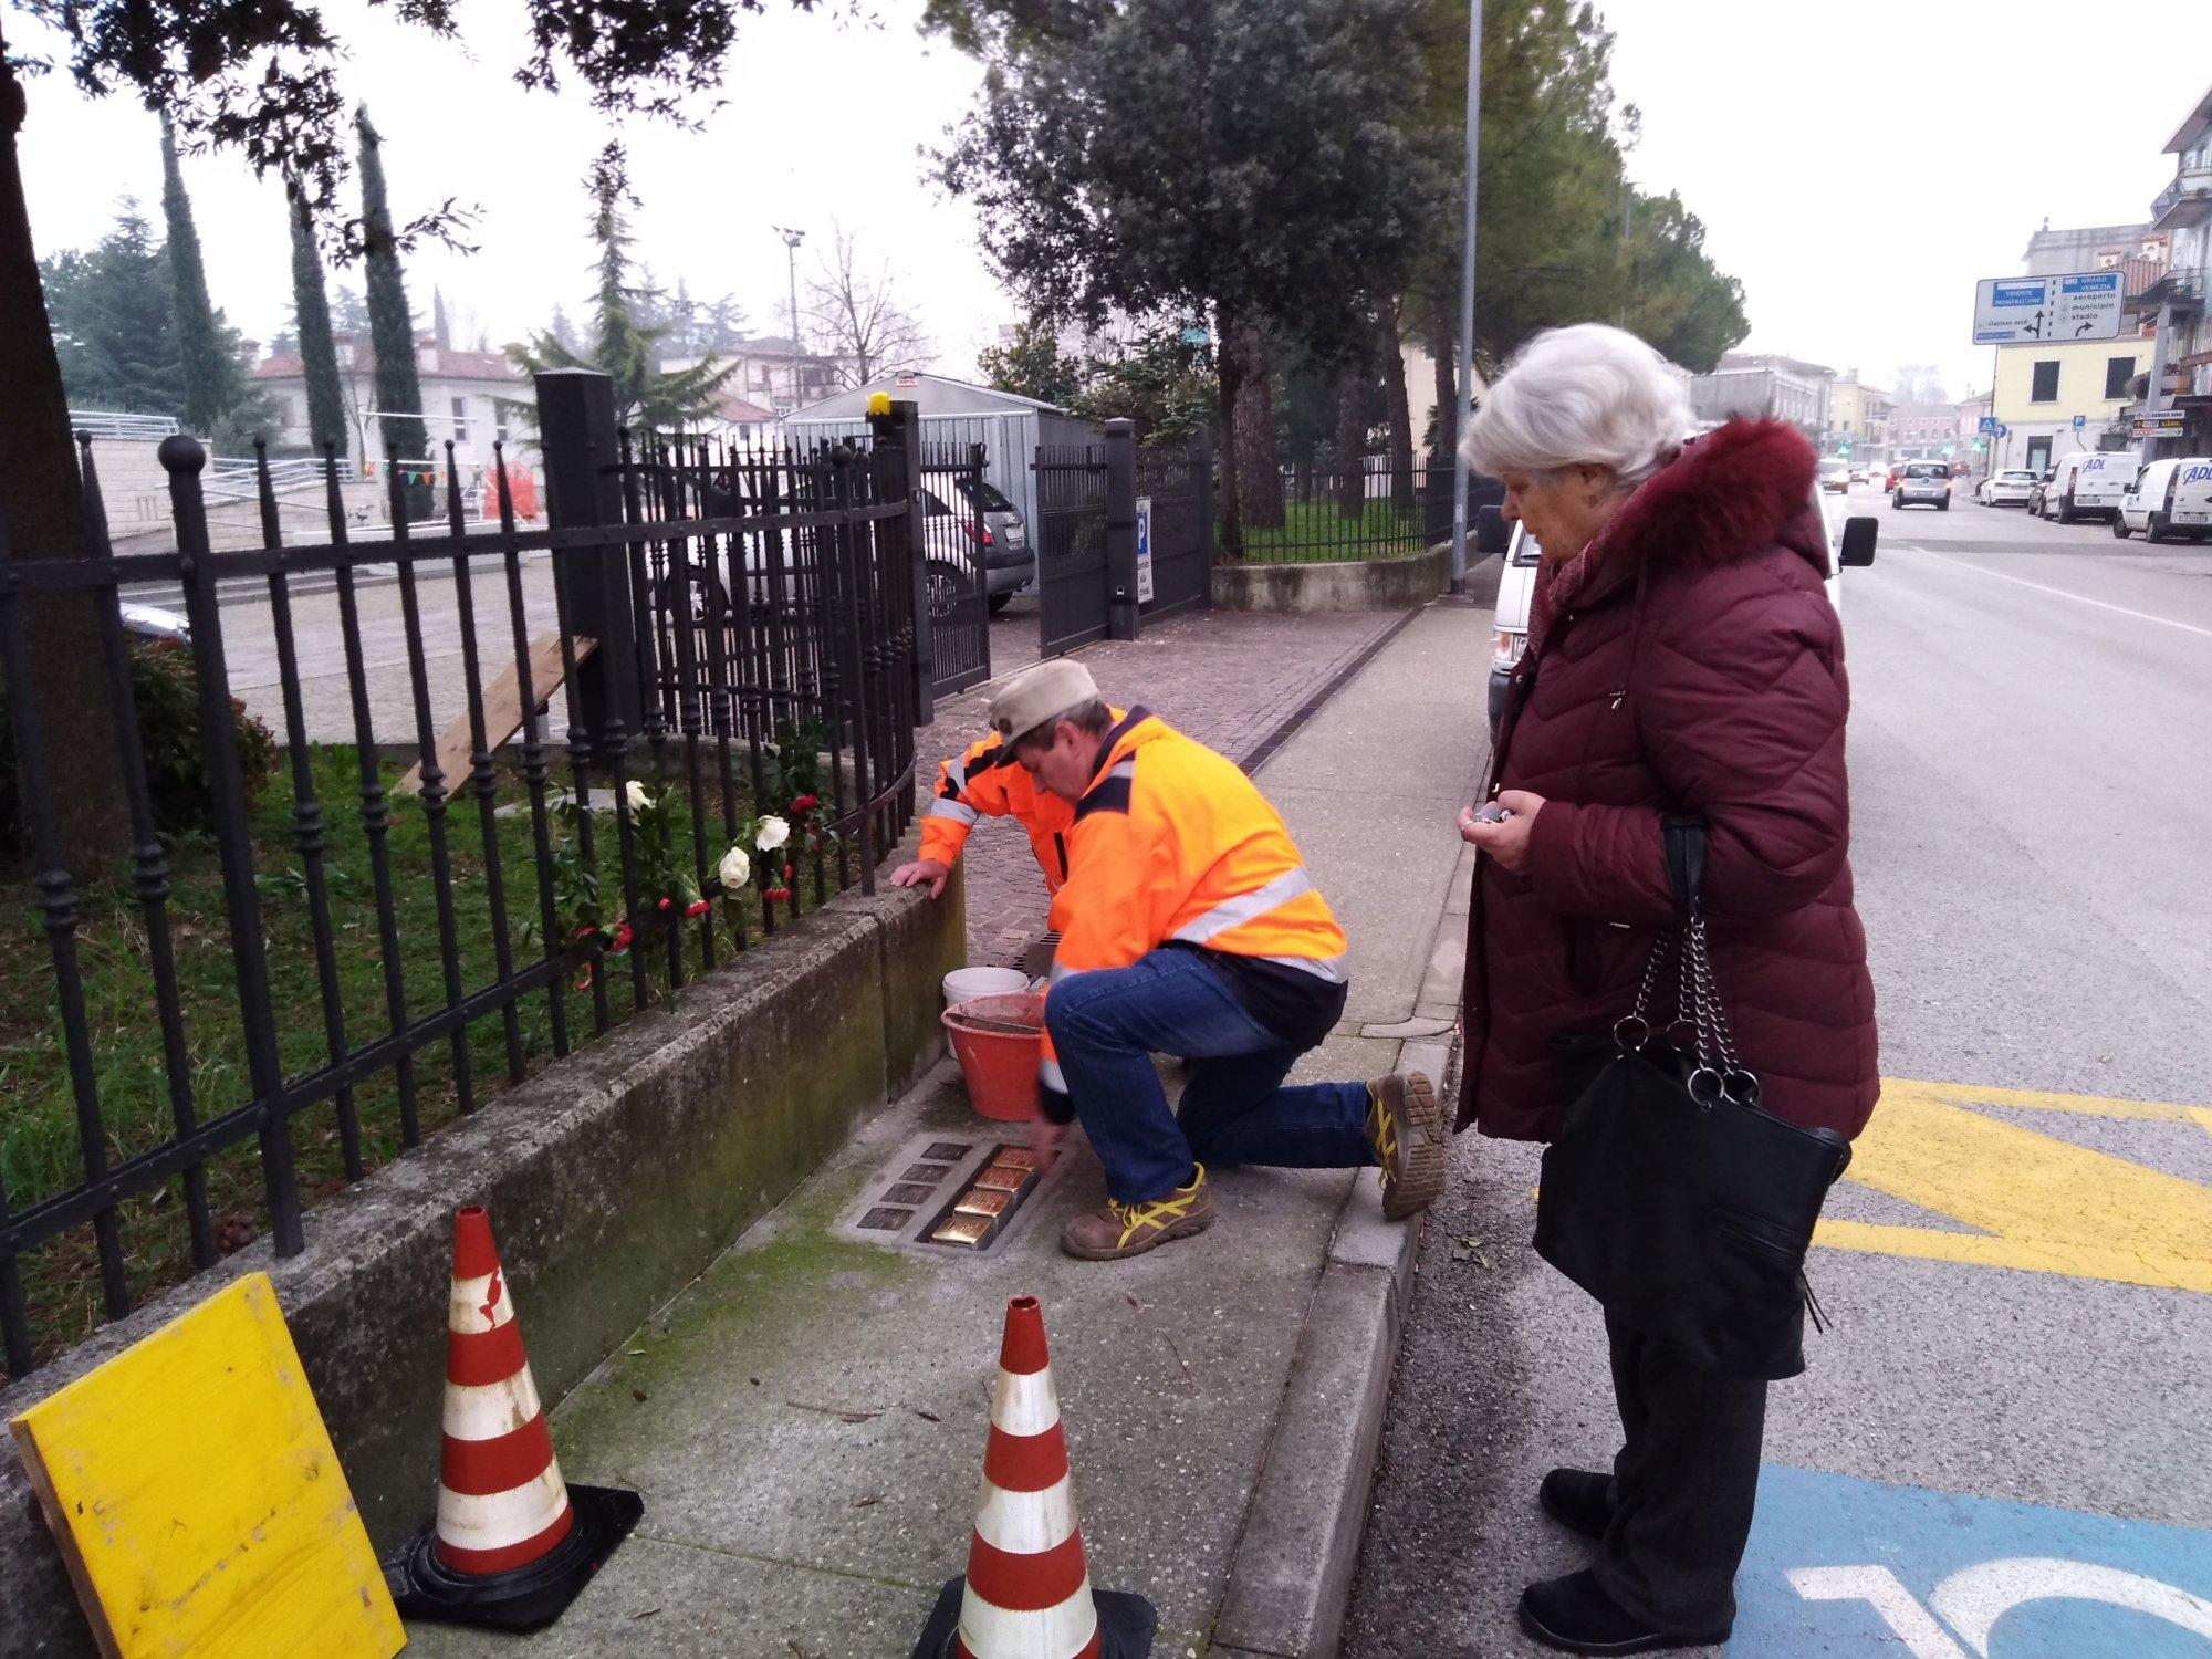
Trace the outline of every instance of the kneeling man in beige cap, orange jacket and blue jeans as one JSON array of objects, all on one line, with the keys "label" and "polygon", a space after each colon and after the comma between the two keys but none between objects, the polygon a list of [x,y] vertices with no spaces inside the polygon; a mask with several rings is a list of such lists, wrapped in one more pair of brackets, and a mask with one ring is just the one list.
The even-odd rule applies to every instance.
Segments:
[{"label": "kneeling man in beige cap, orange jacket and blue jeans", "polygon": [[[1051,1124],[1082,1119],[1106,1208],[1060,1245],[1119,1261],[1203,1232],[1208,1164],[1380,1164],[1385,1214],[1429,1206],[1444,1117],[1427,1077],[1283,1084],[1343,1015],[1345,933],[1252,781],[1144,708],[1117,717],[1066,659],[1009,681],[991,726],[1075,816],[1040,1088]],[[1190,1062],[1179,1115],[1155,1053]]]}]

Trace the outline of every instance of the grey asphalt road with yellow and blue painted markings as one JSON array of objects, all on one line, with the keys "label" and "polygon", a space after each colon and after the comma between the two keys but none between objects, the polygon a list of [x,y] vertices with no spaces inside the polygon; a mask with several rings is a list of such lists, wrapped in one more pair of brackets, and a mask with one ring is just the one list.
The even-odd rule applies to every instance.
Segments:
[{"label": "grey asphalt road with yellow and blue painted markings", "polygon": [[[1734,1655],[2212,1652],[2212,546],[1960,500],[1845,575],[1885,1097],[1778,1385]],[[1537,1652],[1601,1464],[1595,1307],[1528,1250],[1535,1148],[1433,1212],[1352,1659]]]}]

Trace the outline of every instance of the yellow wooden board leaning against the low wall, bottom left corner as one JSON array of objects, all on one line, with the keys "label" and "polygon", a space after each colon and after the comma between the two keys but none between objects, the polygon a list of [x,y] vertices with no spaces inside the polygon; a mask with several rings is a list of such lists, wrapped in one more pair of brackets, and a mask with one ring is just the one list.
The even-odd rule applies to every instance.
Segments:
[{"label": "yellow wooden board leaning against the low wall, bottom left corner", "polygon": [[9,1427],[102,1652],[389,1659],[407,1646],[268,1274]]}]

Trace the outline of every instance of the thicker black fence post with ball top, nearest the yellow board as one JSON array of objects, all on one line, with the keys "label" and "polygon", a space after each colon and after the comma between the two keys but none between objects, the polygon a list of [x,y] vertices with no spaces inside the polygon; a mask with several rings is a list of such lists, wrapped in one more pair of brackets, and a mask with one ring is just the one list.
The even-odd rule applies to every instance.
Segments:
[{"label": "thicker black fence post with ball top, nearest the yellow board", "polygon": [[192,668],[199,677],[199,726],[208,752],[208,792],[215,796],[215,847],[223,867],[223,907],[230,914],[230,960],[239,980],[239,1020],[246,1026],[246,1075],[265,1113],[261,1121],[261,1175],[270,1197],[270,1230],[279,1256],[305,1248],[299,1225],[299,1181],[292,1168],[292,1106],[285,1099],[283,1062],[276,1053],[276,1011],[270,1004],[268,945],[261,938],[261,894],[254,887],[254,843],[239,772],[237,732],[230,728],[230,670],[223,661],[223,608],[215,593],[208,555],[208,515],[199,471],[208,451],[177,434],[157,451],[168,473],[168,498],[177,522],[177,577],[184,584],[184,615],[192,626]]}]

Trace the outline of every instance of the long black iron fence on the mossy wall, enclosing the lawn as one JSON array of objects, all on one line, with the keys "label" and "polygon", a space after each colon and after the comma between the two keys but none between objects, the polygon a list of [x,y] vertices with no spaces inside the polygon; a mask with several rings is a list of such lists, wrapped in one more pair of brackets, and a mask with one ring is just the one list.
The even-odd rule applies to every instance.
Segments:
[{"label": "long black iron fence on the mossy wall, enclosing the lawn", "polygon": [[[9,1374],[250,1237],[301,1250],[319,1194],[874,889],[927,719],[907,447],[633,447],[599,376],[568,392],[549,529],[502,487],[471,533],[449,467],[440,531],[354,542],[332,462],[323,540],[261,469],[263,544],[210,553],[181,436],[173,553],[111,549],[88,445],[77,557],[0,526],[4,880],[44,931],[0,967]],[[144,586],[188,637],[133,633]],[[113,752],[42,697],[71,617]],[[100,792],[113,847],[64,834]]]}]

